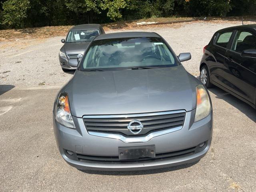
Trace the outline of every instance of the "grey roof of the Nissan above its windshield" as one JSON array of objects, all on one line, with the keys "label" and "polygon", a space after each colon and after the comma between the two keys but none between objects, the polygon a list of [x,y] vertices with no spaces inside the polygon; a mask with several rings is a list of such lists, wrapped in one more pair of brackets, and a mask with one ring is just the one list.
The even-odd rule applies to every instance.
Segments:
[{"label": "grey roof of the Nissan above its windshield", "polygon": [[118,32],[98,35],[94,40],[114,39],[114,38],[132,38],[132,37],[160,37],[153,32]]}]

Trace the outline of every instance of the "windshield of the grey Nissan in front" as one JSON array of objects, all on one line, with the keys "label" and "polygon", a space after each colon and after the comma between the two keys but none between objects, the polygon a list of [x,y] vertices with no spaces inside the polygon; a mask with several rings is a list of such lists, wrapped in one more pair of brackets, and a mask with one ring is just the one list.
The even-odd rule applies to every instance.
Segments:
[{"label": "windshield of the grey Nissan in front", "polygon": [[126,70],[177,66],[161,38],[116,38],[95,40],[82,61],[81,70]]}]

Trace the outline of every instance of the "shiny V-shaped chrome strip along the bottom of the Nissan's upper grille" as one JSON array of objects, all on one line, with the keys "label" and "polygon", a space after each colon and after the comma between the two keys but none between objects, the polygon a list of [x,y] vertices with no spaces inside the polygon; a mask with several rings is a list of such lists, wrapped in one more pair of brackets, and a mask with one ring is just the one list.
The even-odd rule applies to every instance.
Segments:
[{"label": "shiny V-shaped chrome strip along the bottom of the Nissan's upper grille", "polygon": [[143,143],[143,142],[148,142],[149,140],[151,140],[154,137],[165,135],[165,134],[168,134],[168,133],[172,133],[172,132],[178,131],[180,129],[182,129],[182,126],[152,132],[152,133],[150,133],[150,134],[148,134],[147,136],[144,136],[144,137],[125,137],[125,136],[122,136],[120,134],[92,132],[92,131],[88,131],[88,133],[90,135],[93,135],[93,136],[105,137],[105,138],[111,138],[111,139],[118,139],[118,140],[121,140],[124,143]]}]

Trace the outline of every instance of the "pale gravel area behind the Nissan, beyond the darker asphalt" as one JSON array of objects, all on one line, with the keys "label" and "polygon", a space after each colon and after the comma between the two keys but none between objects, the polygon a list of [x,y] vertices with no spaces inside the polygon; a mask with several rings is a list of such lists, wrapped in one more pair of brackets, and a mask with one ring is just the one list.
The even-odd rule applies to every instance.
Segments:
[{"label": "pale gravel area behind the Nissan, beyond the darker asphalt", "polygon": [[[240,24],[240,22],[237,22]],[[191,52],[192,59],[184,62],[184,67],[193,75],[199,74],[199,64],[202,58],[203,47],[208,44],[216,30],[235,26],[235,23],[192,22],[172,25],[169,27],[157,26],[130,31],[157,32],[163,36],[178,55],[181,52]],[[119,32],[124,30],[112,30]],[[128,31],[128,30],[126,30]],[[43,40],[15,40],[0,42],[0,82],[14,86],[37,86],[44,82],[46,85],[62,85],[67,82],[71,74],[64,73],[58,61],[58,52],[63,45],[54,37]]]}]

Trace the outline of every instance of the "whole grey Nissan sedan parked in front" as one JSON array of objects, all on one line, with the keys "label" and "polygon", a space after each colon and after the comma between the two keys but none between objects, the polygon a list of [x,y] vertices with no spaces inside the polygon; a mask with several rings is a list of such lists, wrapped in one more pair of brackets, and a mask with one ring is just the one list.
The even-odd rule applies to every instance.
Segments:
[{"label": "whole grey Nissan sedan parked in front", "polygon": [[56,96],[53,125],[78,169],[145,170],[200,160],[212,140],[212,104],[168,43],[151,32],[94,38]]}]

